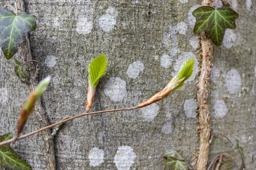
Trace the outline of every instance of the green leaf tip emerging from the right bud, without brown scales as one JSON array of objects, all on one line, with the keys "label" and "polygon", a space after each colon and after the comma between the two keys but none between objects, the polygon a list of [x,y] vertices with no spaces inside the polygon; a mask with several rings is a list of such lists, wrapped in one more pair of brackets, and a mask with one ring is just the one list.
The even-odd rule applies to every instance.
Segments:
[{"label": "green leaf tip emerging from the right bud, without brown scales", "polygon": [[183,77],[185,77],[185,79],[183,80],[183,83],[181,83],[175,90],[178,90],[180,88],[183,87],[184,82],[189,79],[189,77],[191,77],[192,73],[193,73],[193,68],[194,68],[194,57],[192,57],[189,60],[186,60],[186,62],[183,64],[183,66],[180,68],[177,77],[175,78],[175,80],[172,82],[172,85],[175,85],[177,83],[177,81],[179,81],[180,79],[182,79]]}]

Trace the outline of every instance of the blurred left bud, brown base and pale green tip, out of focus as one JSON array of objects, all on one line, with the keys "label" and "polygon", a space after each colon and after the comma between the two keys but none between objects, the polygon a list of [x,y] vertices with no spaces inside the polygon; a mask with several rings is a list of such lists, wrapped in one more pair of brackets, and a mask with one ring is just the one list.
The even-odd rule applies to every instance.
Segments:
[{"label": "blurred left bud, brown base and pale green tip, out of focus", "polygon": [[21,108],[20,117],[17,122],[16,137],[18,137],[22,132],[24,126],[26,125],[26,121],[29,118],[29,115],[32,113],[35,102],[40,98],[40,96],[44,93],[44,91],[46,91],[47,85],[49,84],[50,80],[51,80],[50,76],[41,80],[41,82],[39,82],[39,84],[36,86],[35,91],[33,91],[30,94],[26,104],[23,105],[23,107]]}]

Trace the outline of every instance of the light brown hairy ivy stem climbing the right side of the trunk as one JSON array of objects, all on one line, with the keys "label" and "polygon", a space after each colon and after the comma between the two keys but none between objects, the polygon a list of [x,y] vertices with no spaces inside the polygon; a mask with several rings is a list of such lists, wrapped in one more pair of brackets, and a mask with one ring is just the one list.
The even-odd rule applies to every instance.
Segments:
[{"label": "light brown hairy ivy stem climbing the right side of the trunk", "polygon": [[[212,0],[202,0],[201,6],[211,6]],[[195,157],[195,169],[206,170],[209,154],[209,139],[211,131],[211,121],[208,109],[209,97],[209,78],[212,69],[212,43],[205,32],[201,32],[200,42],[198,44],[199,68],[197,82],[197,101],[198,101],[198,119],[199,127],[197,131],[200,133],[200,145],[198,154]]]}]

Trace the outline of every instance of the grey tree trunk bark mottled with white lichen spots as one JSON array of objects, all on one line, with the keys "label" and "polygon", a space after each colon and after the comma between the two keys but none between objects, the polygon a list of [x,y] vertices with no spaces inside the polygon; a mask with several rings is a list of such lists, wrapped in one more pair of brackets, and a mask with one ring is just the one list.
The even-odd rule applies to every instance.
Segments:
[{"label": "grey tree trunk bark mottled with white lichen spots", "polygon": [[[244,147],[247,168],[256,151],[256,6],[233,0],[240,14],[235,30],[213,51],[209,114],[213,131]],[[1,0],[0,5],[13,4]],[[197,35],[191,11],[198,0],[26,0],[38,17],[30,34],[32,56],[41,62],[40,77],[52,76],[42,98],[50,123],[84,111],[90,61],[105,53],[108,72],[99,82],[91,111],[137,105],[160,91],[193,56]],[[192,8],[192,9],[191,9]],[[191,9],[191,10],[190,10]],[[189,11],[190,10],[190,11]],[[22,59],[17,58],[20,61]],[[13,71],[14,60],[0,56],[0,133],[15,132],[29,89]],[[195,64],[197,65],[197,63]],[[148,108],[87,116],[68,122],[55,136],[56,169],[167,170],[162,153],[174,147],[192,162],[199,144],[195,133],[195,74],[185,88]],[[32,114],[23,133],[37,129]],[[44,142],[38,134],[12,146],[35,170],[46,169]],[[209,161],[232,146],[216,136]],[[233,169],[223,159],[220,169]]]}]

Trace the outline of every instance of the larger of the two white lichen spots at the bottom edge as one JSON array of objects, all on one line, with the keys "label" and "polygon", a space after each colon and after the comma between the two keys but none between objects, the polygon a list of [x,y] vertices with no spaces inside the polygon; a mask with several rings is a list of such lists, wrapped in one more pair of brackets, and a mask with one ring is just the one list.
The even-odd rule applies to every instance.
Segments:
[{"label": "larger of the two white lichen spots at the bottom edge", "polygon": [[136,154],[130,146],[120,146],[114,157],[114,163],[118,170],[130,170]]}]

